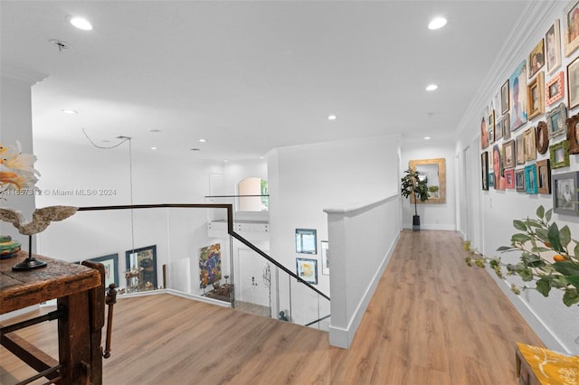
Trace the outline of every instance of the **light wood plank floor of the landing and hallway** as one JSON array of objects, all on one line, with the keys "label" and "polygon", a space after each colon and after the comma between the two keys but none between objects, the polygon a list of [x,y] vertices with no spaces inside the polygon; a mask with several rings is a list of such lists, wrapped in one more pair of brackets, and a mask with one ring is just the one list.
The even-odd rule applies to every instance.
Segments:
[{"label": "light wood plank floor of the landing and hallway", "polygon": [[[403,231],[349,350],[315,329],[176,296],[119,299],[105,383],[516,384],[515,343],[543,344],[464,257],[455,232]],[[20,333],[56,355],[46,324]],[[0,383],[25,374],[2,348]]]}]

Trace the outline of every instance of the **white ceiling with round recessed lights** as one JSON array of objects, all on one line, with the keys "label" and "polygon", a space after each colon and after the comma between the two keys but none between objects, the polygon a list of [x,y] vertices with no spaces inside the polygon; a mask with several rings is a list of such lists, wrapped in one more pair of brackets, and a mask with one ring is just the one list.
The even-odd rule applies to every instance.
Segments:
[{"label": "white ceiling with round recessed lights", "polygon": [[[33,86],[35,140],[91,146],[84,128],[99,146],[130,136],[136,150],[157,146],[159,153],[241,160],[273,147],[358,136],[451,137],[526,4],[3,0],[0,6],[3,63],[48,75]],[[67,19],[75,15],[94,29],[72,27]],[[435,15],[449,23],[430,31]],[[51,39],[71,50],[59,52]],[[425,91],[430,83],[439,89]],[[327,120],[329,114],[337,120]]]}]

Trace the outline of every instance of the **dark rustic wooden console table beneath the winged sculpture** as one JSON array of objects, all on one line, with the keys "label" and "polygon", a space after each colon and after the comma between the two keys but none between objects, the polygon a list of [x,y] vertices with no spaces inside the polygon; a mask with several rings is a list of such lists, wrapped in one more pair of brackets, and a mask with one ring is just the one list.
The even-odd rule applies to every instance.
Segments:
[{"label": "dark rustic wooden console table beneath the winged sculpture", "polygon": [[[59,361],[12,333],[52,318],[41,316],[18,325],[3,325],[0,343],[36,371],[52,371],[43,377],[55,383],[101,384],[100,338],[105,306],[102,265],[90,264],[88,268],[35,255],[34,258],[48,262],[48,266],[12,271],[14,264],[26,255],[27,252],[20,251],[15,258],[0,260],[0,314],[57,298],[58,307],[52,318],[58,317]],[[53,370],[55,366],[57,371]]]}]

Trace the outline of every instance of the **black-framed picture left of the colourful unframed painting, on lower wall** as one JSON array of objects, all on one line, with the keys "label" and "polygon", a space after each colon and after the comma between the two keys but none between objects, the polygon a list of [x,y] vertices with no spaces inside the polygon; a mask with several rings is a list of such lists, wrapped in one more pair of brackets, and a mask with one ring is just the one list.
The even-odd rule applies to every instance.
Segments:
[{"label": "black-framed picture left of the colourful unframed painting, on lower wall", "polygon": [[[127,286],[135,291],[157,288],[157,245],[125,251]],[[130,274],[134,273],[134,274]],[[137,278],[137,279],[136,279]]]}]

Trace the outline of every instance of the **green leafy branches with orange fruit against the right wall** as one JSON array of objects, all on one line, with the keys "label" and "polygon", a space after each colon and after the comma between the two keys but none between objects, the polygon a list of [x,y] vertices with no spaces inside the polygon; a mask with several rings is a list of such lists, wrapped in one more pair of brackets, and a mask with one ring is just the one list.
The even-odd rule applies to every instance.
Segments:
[{"label": "green leafy branches with orange fruit against the right wall", "polygon": [[[536,209],[537,219],[515,220],[513,227],[518,231],[511,238],[510,246],[501,246],[500,252],[517,251],[519,260],[516,264],[504,264],[500,258],[488,258],[470,249],[470,243],[464,248],[470,251],[467,264],[476,264],[480,268],[487,265],[498,277],[504,278],[503,268],[510,276],[517,275],[524,282],[534,282],[535,287],[523,286],[523,290],[536,289],[541,295],[549,296],[551,289],[562,290],[563,303],[567,306],[579,304],[579,242],[572,238],[568,226],[559,229],[551,222],[553,210],[543,206]],[[573,247],[573,249],[572,249]],[[521,288],[511,285],[515,294]]]}]

